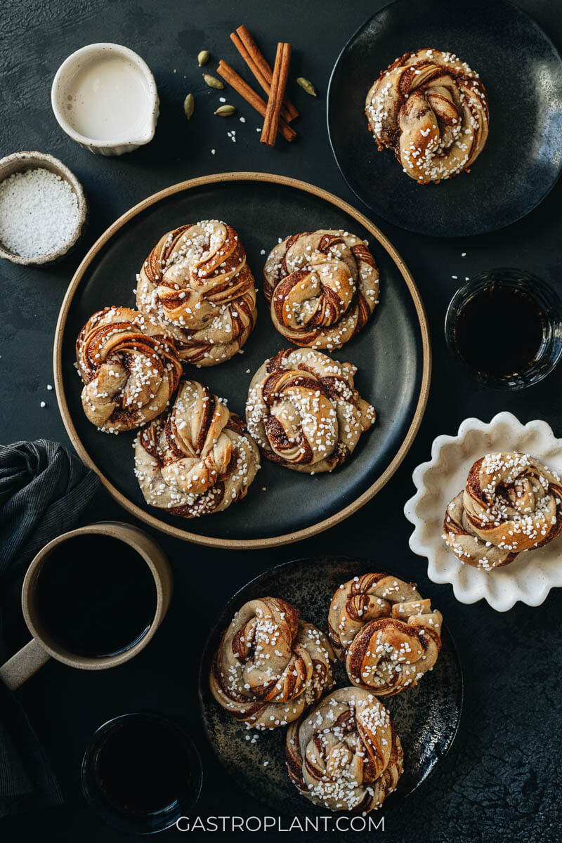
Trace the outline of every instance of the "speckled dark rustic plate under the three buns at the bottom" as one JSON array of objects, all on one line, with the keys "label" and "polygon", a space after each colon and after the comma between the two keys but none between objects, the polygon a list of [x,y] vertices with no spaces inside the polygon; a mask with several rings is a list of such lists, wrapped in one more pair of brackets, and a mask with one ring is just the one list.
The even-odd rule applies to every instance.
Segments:
[{"label": "speckled dark rustic plate under the three buns at the bottom", "polygon": [[[378,570],[372,562],[345,556],[299,559],[270,568],[244,586],[222,610],[201,661],[199,701],[207,737],[222,764],[238,784],[268,807],[282,813],[313,814],[316,808],[303,798],[286,773],[286,729],[254,732],[218,706],[209,690],[209,669],[222,631],[235,611],[248,600],[271,595],[300,609],[303,620],[326,630],[329,600],[341,583]],[[424,595],[428,596],[428,595]],[[336,687],[349,685],[337,663]],[[463,674],[452,638],[443,627],[442,649],[436,665],[415,688],[383,699],[404,748],[404,773],[389,799],[408,796],[419,787],[447,753],[457,733],[463,707]],[[254,744],[247,735],[257,734]],[[264,765],[264,762],[268,763]],[[324,811],[325,813],[325,811]]]}]

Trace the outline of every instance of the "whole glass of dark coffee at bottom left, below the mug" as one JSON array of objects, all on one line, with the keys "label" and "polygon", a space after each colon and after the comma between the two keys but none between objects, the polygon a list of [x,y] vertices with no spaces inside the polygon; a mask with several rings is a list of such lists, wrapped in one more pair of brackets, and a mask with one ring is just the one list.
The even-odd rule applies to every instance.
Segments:
[{"label": "whole glass of dark coffee at bottom left, below the mug", "polygon": [[136,712],[104,723],[82,762],[88,803],[129,834],[155,834],[189,815],[201,783],[195,744],[159,714]]}]

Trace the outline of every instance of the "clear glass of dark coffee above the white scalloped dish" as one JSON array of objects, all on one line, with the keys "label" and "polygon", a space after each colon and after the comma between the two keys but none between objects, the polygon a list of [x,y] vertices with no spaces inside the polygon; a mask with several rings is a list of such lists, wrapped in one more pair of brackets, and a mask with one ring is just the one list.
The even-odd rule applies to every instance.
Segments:
[{"label": "clear glass of dark coffee above the white scalloped dish", "polygon": [[524,389],[538,384],[562,354],[562,305],[540,278],[494,269],[453,296],[445,318],[449,350],[481,384]]}]

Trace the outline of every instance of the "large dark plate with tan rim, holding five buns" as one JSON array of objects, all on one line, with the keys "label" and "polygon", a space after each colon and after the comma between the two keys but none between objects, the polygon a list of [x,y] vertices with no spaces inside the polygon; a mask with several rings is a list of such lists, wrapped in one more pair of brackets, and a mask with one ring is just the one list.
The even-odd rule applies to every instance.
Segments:
[{"label": "large dark plate with tan rim, holding five buns", "polygon": [[[244,501],[223,513],[179,518],[147,507],[133,474],[135,432],[108,436],[83,414],[74,368],[78,331],[96,310],[134,306],[136,272],[164,232],[188,221],[222,218],[238,231],[261,287],[265,255],[278,238],[314,228],[345,228],[369,239],[380,267],[381,303],[370,324],[340,352],[359,371],[356,385],[377,408],[377,425],[361,438],[352,459],[333,474],[302,475],[267,459]],[[258,293],[258,323],[244,353],[212,368],[186,366],[244,415],[250,379],[288,345]],[[78,454],[117,500],[137,518],[179,538],[217,546],[257,547],[301,539],[354,512],[388,480],[409,448],[423,414],[430,375],[426,317],[408,270],[377,228],[325,191],[260,174],[221,174],[174,185],[121,217],[99,239],[72,280],[55,341],[56,390]]]}]

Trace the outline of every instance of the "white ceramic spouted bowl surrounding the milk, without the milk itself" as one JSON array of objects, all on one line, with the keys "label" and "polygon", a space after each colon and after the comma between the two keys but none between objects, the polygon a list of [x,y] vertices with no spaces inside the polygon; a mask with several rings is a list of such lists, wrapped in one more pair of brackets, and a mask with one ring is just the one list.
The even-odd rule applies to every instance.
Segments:
[{"label": "white ceramic spouted bowl surrounding the milk, without the milk itself", "polygon": [[[67,112],[68,91],[72,83],[72,78],[89,62],[93,62],[96,58],[107,56],[121,57],[135,65],[142,73],[147,92],[147,121],[146,126],[142,127],[142,131],[137,132],[134,137],[104,138],[103,140],[86,137],[80,134],[80,132],[77,132],[67,120],[65,112]],[[158,99],[156,82],[147,62],[128,47],[121,46],[120,44],[101,42],[82,47],[62,62],[61,67],[56,71],[55,78],[53,79],[51,105],[59,126],[61,126],[64,132],[67,132],[69,137],[72,137],[72,140],[79,143],[81,147],[89,149],[90,152],[96,155],[122,155],[123,153],[131,153],[134,149],[138,149],[145,143],[152,141],[158,121],[160,101]]]}]

